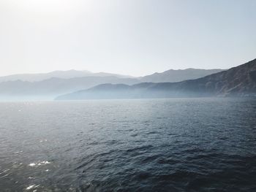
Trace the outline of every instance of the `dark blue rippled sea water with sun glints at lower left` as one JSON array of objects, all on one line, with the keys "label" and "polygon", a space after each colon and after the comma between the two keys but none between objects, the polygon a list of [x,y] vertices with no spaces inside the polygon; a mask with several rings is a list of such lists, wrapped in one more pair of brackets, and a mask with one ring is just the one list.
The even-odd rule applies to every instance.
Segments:
[{"label": "dark blue rippled sea water with sun glints at lower left", "polygon": [[0,191],[256,191],[256,100],[0,103],[0,146]]}]

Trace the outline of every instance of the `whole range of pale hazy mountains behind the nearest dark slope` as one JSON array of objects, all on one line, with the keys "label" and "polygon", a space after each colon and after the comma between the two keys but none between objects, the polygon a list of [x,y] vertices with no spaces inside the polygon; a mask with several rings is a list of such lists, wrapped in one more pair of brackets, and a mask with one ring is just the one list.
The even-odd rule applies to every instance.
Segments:
[{"label": "whole range of pale hazy mountains behind the nearest dark slope", "polygon": [[145,77],[76,70],[41,74],[13,74],[0,77],[0,100],[52,100],[56,96],[88,89],[100,84],[134,85],[140,82],[176,82],[177,80],[204,77],[206,74],[221,71],[223,70],[168,70]]}]

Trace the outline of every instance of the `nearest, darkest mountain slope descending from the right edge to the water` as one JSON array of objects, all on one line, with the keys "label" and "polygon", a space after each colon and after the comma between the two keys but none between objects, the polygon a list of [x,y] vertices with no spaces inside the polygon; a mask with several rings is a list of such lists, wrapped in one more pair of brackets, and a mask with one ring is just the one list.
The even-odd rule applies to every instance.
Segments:
[{"label": "nearest, darkest mountain slope descending from the right edge to the water", "polygon": [[181,82],[143,82],[135,85],[97,85],[59,96],[67,99],[131,99],[201,96],[256,96],[256,59],[227,71]]}]

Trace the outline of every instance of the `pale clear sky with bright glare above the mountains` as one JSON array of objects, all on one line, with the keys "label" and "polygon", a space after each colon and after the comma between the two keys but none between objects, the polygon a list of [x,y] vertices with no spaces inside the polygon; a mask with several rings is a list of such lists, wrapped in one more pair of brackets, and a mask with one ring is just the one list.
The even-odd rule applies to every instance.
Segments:
[{"label": "pale clear sky with bright glare above the mountains", "polygon": [[255,0],[0,0],[0,75],[142,76],[256,58]]}]

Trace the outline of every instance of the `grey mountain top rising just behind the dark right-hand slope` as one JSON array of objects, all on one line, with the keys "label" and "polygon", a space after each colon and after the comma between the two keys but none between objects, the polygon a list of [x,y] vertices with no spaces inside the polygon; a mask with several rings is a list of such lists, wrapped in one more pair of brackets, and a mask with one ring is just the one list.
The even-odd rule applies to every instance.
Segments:
[{"label": "grey mountain top rising just behind the dark right-hand slope", "polygon": [[224,69],[170,69],[162,73],[154,73],[140,77],[141,82],[180,82],[183,80],[195,80],[209,74],[225,71]]}]

